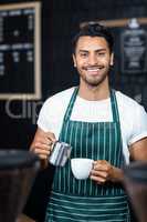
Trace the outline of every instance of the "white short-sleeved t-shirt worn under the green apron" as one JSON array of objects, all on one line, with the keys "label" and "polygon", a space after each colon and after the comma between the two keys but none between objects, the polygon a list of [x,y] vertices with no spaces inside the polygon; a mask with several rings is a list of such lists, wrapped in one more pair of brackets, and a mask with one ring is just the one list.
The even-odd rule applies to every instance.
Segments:
[{"label": "white short-sleeved t-shirt worn under the green apron", "polygon": [[[53,132],[59,139],[63,118],[74,88],[70,88],[49,98],[39,114],[38,127],[43,131]],[[126,163],[129,162],[129,145],[147,137],[147,113],[135,100],[116,91],[123,152]],[[111,99],[87,101],[77,95],[71,120],[85,122],[113,121]]]}]

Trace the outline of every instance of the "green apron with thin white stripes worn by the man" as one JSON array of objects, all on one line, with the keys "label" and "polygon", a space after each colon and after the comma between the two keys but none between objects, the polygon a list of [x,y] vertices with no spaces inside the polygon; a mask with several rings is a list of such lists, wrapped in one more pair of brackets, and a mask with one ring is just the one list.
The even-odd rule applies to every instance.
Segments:
[{"label": "green apron with thin white stripes worn by the man", "polygon": [[[113,122],[70,120],[78,88],[75,88],[64,115],[60,141],[72,145],[71,159],[107,160],[112,165],[122,168],[124,158],[115,91],[111,90]],[[45,216],[45,222],[53,221],[129,222],[127,196],[120,184],[76,180],[69,160],[64,168],[55,170]]]}]

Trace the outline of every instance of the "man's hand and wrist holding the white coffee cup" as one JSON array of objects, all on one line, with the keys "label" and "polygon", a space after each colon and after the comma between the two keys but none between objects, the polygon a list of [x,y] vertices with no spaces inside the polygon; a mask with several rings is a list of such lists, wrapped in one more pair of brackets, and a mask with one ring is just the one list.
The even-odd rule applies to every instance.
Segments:
[{"label": "man's hand and wrist holding the white coffee cup", "polygon": [[90,178],[98,184],[104,184],[107,181],[122,182],[124,175],[120,169],[111,165],[106,160],[97,160],[94,161]]}]

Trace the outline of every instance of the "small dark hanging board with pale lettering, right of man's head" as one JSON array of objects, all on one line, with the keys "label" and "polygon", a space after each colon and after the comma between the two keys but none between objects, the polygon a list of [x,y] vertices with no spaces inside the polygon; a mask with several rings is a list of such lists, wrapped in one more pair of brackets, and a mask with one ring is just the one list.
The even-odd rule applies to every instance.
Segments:
[{"label": "small dark hanging board with pale lettering, right of man's head", "polygon": [[123,73],[147,72],[147,30],[136,18],[120,31],[120,54]]}]

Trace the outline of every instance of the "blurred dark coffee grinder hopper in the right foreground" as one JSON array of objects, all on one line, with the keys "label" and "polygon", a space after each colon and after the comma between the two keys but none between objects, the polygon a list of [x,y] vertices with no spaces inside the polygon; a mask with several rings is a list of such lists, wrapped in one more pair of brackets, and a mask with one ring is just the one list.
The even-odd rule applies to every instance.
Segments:
[{"label": "blurred dark coffee grinder hopper in the right foreground", "polygon": [[147,162],[133,162],[124,169],[124,185],[138,222],[147,222]]}]

